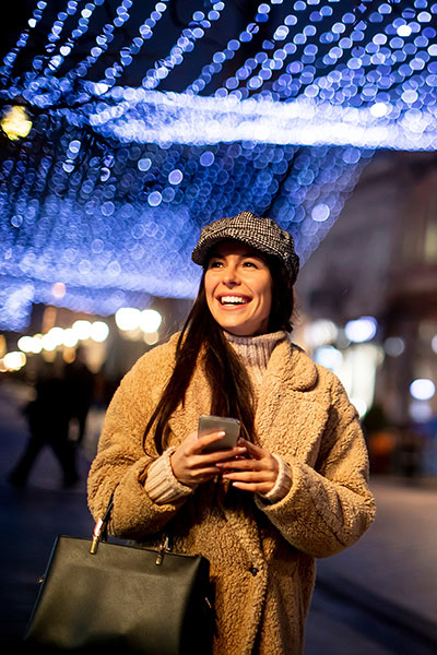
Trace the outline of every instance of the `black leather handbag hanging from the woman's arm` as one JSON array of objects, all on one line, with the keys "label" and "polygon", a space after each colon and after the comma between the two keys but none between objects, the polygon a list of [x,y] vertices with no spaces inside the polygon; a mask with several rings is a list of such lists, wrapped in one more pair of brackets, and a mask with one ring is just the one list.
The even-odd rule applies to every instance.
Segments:
[{"label": "black leather handbag hanging from the woman's arm", "polygon": [[208,655],[214,617],[209,561],[106,541],[113,507],[92,541],[59,536],[24,638],[26,653]]}]

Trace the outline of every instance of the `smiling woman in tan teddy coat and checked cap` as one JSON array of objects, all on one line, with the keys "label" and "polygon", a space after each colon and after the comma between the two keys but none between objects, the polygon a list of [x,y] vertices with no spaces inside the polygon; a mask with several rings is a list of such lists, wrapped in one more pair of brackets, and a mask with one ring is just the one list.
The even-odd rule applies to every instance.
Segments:
[{"label": "smiling woman in tan teddy coat and checked cap", "polygon": [[[107,413],[90,474],[111,531],[201,553],[215,585],[215,655],[297,655],[314,558],[374,517],[367,453],[339,380],[288,340],[298,258],[273,221],[243,212],[202,229],[204,273],[180,335],[144,355]],[[202,454],[202,414],[238,418],[236,448]]]}]

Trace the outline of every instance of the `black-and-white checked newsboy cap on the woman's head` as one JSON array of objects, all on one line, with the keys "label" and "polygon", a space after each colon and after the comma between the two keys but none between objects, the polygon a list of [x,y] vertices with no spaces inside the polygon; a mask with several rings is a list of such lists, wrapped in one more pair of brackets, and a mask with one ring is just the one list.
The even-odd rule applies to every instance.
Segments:
[{"label": "black-and-white checked newsboy cap on the woman's head", "polygon": [[299,271],[299,258],[294,250],[290,233],[282,229],[272,218],[256,216],[252,212],[241,212],[231,218],[220,218],[202,228],[191,259],[196,264],[208,263],[211,249],[221,241],[241,241],[264,254],[275,257],[285,266],[292,284]]}]

